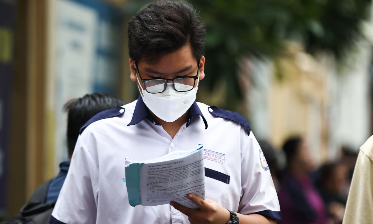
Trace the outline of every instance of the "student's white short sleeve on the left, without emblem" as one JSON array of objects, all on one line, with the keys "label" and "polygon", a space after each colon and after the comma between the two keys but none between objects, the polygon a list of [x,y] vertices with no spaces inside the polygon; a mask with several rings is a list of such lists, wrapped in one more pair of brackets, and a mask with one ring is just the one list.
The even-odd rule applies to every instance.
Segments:
[{"label": "student's white short sleeve on the left, without emblem", "polygon": [[98,166],[79,136],[51,224],[96,223]]}]

